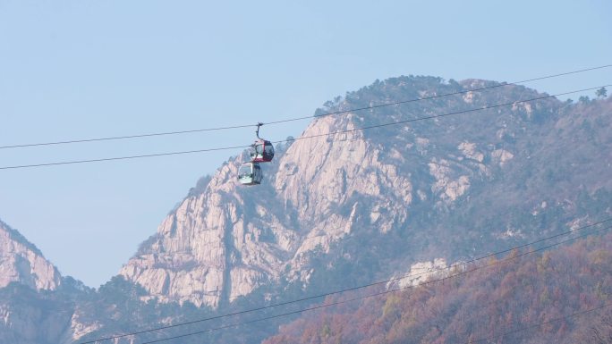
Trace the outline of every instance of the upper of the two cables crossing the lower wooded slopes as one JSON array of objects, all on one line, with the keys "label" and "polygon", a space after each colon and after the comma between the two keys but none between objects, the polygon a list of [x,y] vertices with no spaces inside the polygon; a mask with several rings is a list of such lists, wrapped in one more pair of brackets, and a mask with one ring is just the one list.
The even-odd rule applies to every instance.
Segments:
[{"label": "upper of the two cables crossing the lower wooded slopes", "polygon": [[[446,271],[446,270],[452,271],[453,269],[455,269],[457,267],[460,267],[460,266],[465,266],[467,264],[477,263],[477,262],[480,262],[480,261],[482,261],[484,259],[490,258],[492,256],[499,256],[499,255],[506,254],[506,253],[511,252],[511,251],[513,251],[515,249],[527,248],[529,246],[532,246],[532,245],[535,245],[535,244],[539,244],[541,242],[548,241],[550,239],[557,239],[557,238],[560,238],[560,237],[563,237],[563,236],[566,236],[566,235],[569,235],[569,234],[574,234],[576,232],[584,231],[584,230],[586,230],[588,228],[595,227],[595,226],[598,226],[599,224],[610,222],[610,221],[612,221],[612,218],[601,220],[599,222],[593,222],[591,224],[578,227],[578,228],[576,228],[574,230],[564,231],[564,232],[557,233],[557,234],[552,235],[552,236],[548,236],[546,238],[542,238],[542,239],[538,239],[538,240],[535,240],[535,241],[531,241],[531,242],[523,244],[523,245],[514,246],[512,248],[506,248],[504,250],[497,251],[497,252],[494,252],[494,253],[490,253],[490,254],[485,255],[485,256],[480,256],[480,257],[477,257],[477,258],[473,258],[472,260],[469,260],[469,261],[465,261],[465,262],[461,262],[461,263],[456,263],[456,264],[451,264],[451,265],[449,265],[447,267],[444,267],[444,268],[436,268],[436,269],[433,269],[432,272],[428,272],[428,273],[436,273],[436,272],[442,272],[442,271]],[[159,326],[159,327],[155,327],[155,328],[151,328],[151,329],[147,329],[147,330],[132,331],[132,332],[128,332],[128,333],[117,334],[117,335],[108,336],[108,337],[105,337],[105,338],[99,338],[97,340],[82,341],[80,344],[91,344],[91,343],[95,343],[95,342],[103,341],[103,340],[116,340],[116,339],[120,339],[120,338],[124,338],[124,337],[129,337],[129,336],[134,336],[134,335],[139,335],[139,334],[143,334],[143,333],[149,333],[149,332],[154,332],[154,331],[163,331],[163,330],[168,330],[168,329],[172,329],[172,328],[176,328],[176,327],[191,325],[191,324],[194,324],[194,323],[205,323],[205,322],[208,322],[208,321],[217,320],[217,319],[226,318],[226,317],[235,316],[235,315],[245,315],[245,314],[249,314],[249,313],[253,313],[253,312],[258,312],[258,311],[261,311],[261,310],[275,308],[275,307],[278,307],[278,306],[286,306],[286,305],[296,304],[296,303],[303,302],[303,301],[309,301],[309,300],[313,300],[313,299],[317,299],[317,298],[325,298],[325,297],[332,296],[332,295],[342,294],[342,293],[345,293],[345,292],[348,292],[348,291],[354,291],[354,290],[358,290],[358,289],[366,289],[366,288],[370,288],[370,287],[374,287],[374,286],[382,285],[382,284],[387,284],[387,283],[394,282],[394,281],[401,281],[401,280],[404,280],[404,279],[407,279],[407,278],[414,278],[414,277],[418,277],[418,276],[421,276],[421,275],[424,275],[424,274],[426,274],[426,273],[409,273],[409,274],[405,274],[403,276],[397,276],[397,277],[393,277],[393,278],[390,278],[390,279],[387,279],[387,280],[383,280],[383,281],[375,281],[375,282],[372,282],[372,283],[369,283],[369,284],[364,284],[364,285],[360,285],[360,286],[356,286],[356,287],[352,287],[352,288],[328,291],[328,292],[325,292],[325,293],[321,293],[321,294],[310,296],[310,297],[306,297],[306,298],[293,299],[293,300],[279,302],[279,303],[268,305],[268,306],[259,306],[259,307],[255,307],[255,308],[251,308],[251,309],[246,309],[246,310],[242,310],[242,311],[233,312],[233,313],[227,313],[225,315],[216,315],[216,316],[211,316],[211,317],[207,317],[207,318],[203,318],[203,319],[193,320],[193,321],[190,321],[190,322],[174,323],[174,324]]]}]

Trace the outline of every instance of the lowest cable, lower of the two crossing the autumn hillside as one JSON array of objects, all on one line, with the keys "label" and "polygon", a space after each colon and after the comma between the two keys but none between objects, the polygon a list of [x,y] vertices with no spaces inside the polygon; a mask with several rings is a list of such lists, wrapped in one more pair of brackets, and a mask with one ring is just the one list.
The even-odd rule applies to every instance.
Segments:
[{"label": "lowest cable, lower of the two crossing the autumn hillside", "polygon": [[[605,230],[609,230],[609,229],[612,229],[612,226],[608,226],[606,228],[602,228],[602,229],[595,230],[595,231],[605,231]],[[590,236],[590,235],[592,235],[592,233],[586,233],[586,234],[583,234],[583,235],[580,235],[580,236],[577,236],[577,237],[574,237],[574,238],[571,238],[571,239],[565,239],[565,240],[559,241],[559,242],[557,242],[555,244],[551,244],[551,245],[548,245],[548,246],[543,247],[543,248],[533,249],[531,251],[523,252],[522,254],[518,254],[518,255],[515,255],[515,256],[510,256],[510,257],[508,257],[506,259],[498,260],[498,261],[492,262],[490,264],[483,264],[483,265],[475,267],[475,268],[473,268],[471,270],[465,270],[463,272],[451,274],[451,275],[448,275],[448,276],[445,276],[443,278],[439,278],[439,279],[436,279],[436,280],[428,280],[428,281],[424,281],[424,282],[417,283],[417,284],[414,284],[414,285],[409,285],[409,286],[406,286],[406,287],[401,287],[401,288],[398,288],[398,289],[387,289],[387,290],[380,291],[380,292],[374,293],[374,294],[369,294],[369,295],[360,296],[360,297],[356,297],[356,298],[348,298],[348,299],[344,299],[344,300],[340,300],[340,301],[336,301],[336,302],[332,302],[332,303],[327,303],[327,304],[323,304],[323,305],[319,305],[319,306],[311,306],[311,307],[302,308],[302,309],[299,309],[299,310],[296,310],[296,311],[292,311],[292,312],[286,312],[286,313],[279,314],[279,315],[269,315],[269,316],[253,319],[251,321],[238,322],[238,323],[230,323],[230,324],[226,324],[226,325],[223,325],[223,326],[209,328],[209,329],[206,329],[206,330],[192,331],[192,332],[183,333],[183,334],[180,334],[180,335],[174,335],[174,336],[166,337],[166,338],[163,338],[163,339],[144,341],[141,344],[152,344],[152,343],[158,343],[158,342],[167,341],[167,340],[176,340],[176,339],[181,339],[181,338],[185,338],[185,337],[191,337],[191,336],[195,336],[195,335],[199,335],[199,334],[203,334],[203,333],[208,333],[208,332],[212,332],[212,331],[221,331],[221,330],[225,330],[225,329],[228,329],[228,328],[238,327],[238,326],[242,326],[242,325],[246,325],[246,324],[251,324],[251,323],[260,323],[260,322],[263,322],[263,321],[268,321],[268,320],[271,320],[271,319],[276,319],[276,318],[285,317],[285,316],[289,316],[289,315],[298,315],[298,314],[302,314],[304,312],[311,312],[311,311],[315,311],[315,310],[318,310],[318,309],[321,309],[321,308],[327,308],[327,307],[330,307],[330,306],[338,306],[338,305],[342,305],[342,304],[346,304],[346,303],[349,303],[349,302],[358,301],[358,300],[362,300],[362,299],[366,299],[366,298],[375,298],[375,297],[378,297],[378,296],[387,295],[387,294],[390,294],[390,293],[394,293],[394,292],[402,291],[402,290],[406,290],[406,289],[415,289],[415,288],[421,287],[423,285],[429,285],[429,284],[438,283],[440,281],[451,280],[451,279],[454,279],[454,278],[459,277],[459,276],[463,276],[463,275],[468,274],[468,273],[473,273],[475,271],[479,271],[479,270],[482,270],[482,269],[485,269],[485,268],[488,268],[488,267],[491,267],[491,266],[495,266],[495,265],[498,265],[498,264],[506,263],[506,262],[509,262],[511,260],[518,259],[518,258],[520,258],[522,256],[528,256],[528,255],[531,255],[531,254],[534,254],[534,253],[546,250],[548,248],[554,248],[554,247],[560,246],[562,244],[565,244],[565,243],[567,243],[569,241],[572,241],[572,240],[575,240],[575,239],[582,239],[582,238],[585,238],[585,237]],[[81,343],[81,344],[85,344],[85,343],[88,343],[88,342],[84,342],[84,343]]]}]

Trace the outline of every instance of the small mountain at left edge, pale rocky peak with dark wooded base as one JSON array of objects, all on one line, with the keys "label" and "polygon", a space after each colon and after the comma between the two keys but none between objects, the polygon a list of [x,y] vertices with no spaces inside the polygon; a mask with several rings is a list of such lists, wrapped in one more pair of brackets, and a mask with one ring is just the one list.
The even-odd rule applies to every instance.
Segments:
[{"label": "small mountain at left edge, pale rocky peak with dark wooded base", "polygon": [[0,342],[58,343],[69,331],[72,305],[50,297],[64,279],[19,231],[0,222]]}]

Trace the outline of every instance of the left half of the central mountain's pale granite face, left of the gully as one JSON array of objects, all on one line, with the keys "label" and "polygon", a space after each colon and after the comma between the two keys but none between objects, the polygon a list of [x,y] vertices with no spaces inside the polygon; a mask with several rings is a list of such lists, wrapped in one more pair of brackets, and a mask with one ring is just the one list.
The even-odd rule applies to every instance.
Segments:
[{"label": "left half of the central mountain's pale granite face, left of the gully", "polygon": [[[234,178],[239,165],[238,160],[225,164],[202,194],[187,197],[121,274],[153,298],[197,306],[218,306],[222,298],[246,295],[277,277],[281,260],[276,251],[290,248],[294,234],[261,205],[250,209],[261,219],[246,220],[248,206]],[[262,232],[262,221],[278,240],[262,240],[270,235]]]}]

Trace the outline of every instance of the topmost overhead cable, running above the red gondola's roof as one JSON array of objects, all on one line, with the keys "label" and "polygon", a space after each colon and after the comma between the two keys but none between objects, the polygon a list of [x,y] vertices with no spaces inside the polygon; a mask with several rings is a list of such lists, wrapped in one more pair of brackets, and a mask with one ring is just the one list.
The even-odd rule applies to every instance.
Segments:
[{"label": "topmost overhead cable, running above the red gondola's roof", "polygon": [[[385,106],[403,105],[403,104],[407,104],[407,103],[413,103],[413,102],[419,102],[419,101],[423,101],[423,100],[435,99],[435,98],[439,98],[439,97],[443,97],[443,96],[456,96],[456,95],[462,95],[462,94],[466,94],[466,93],[470,93],[470,92],[477,92],[477,91],[488,90],[488,89],[492,89],[492,88],[500,88],[500,87],[505,87],[505,86],[510,86],[510,85],[523,84],[523,83],[526,83],[526,82],[553,79],[553,78],[558,78],[558,77],[562,77],[562,76],[566,76],[566,75],[582,73],[582,72],[586,72],[586,71],[601,70],[601,69],[605,69],[605,68],[609,68],[609,67],[612,67],[612,64],[605,64],[605,65],[601,65],[601,66],[597,66],[597,67],[585,68],[585,69],[576,70],[576,71],[566,71],[566,72],[562,72],[562,73],[545,75],[545,76],[542,76],[542,77],[532,78],[532,79],[527,79],[527,80],[518,80],[518,81],[514,81],[514,82],[501,82],[501,83],[498,83],[498,84],[495,84],[495,85],[486,86],[486,87],[464,89],[464,90],[461,90],[461,91],[450,92],[450,93],[441,94],[441,95],[422,96],[422,97],[417,97],[417,98],[412,98],[412,99],[407,99],[407,100],[401,100],[401,101],[392,102],[392,103],[364,106],[364,107],[354,108],[354,109],[350,109],[350,110],[336,111],[336,112],[330,112],[330,113],[319,113],[319,114],[314,115],[314,116],[302,116],[302,117],[288,118],[288,119],[285,119],[285,120],[265,122],[263,124],[270,125],[270,124],[279,124],[279,123],[285,123],[285,122],[295,122],[295,121],[302,121],[302,120],[311,119],[313,117],[314,118],[319,118],[319,117],[337,115],[337,114],[342,114],[342,113],[352,113],[352,112],[358,112],[358,111],[363,111],[363,110],[371,110],[371,109],[376,109],[376,108],[385,107]],[[162,131],[162,132],[151,132],[151,133],[144,133],[144,134],[133,134],[133,135],[123,135],[123,136],[110,136],[110,137],[103,137],[103,138],[66,139],[66,140],[50,141],[50,142],[38,142],[38,143],[5,145],[5,146],[0,146],[0,149],[22,148],[22,147],[56,146],[56,145],[67,145],[67,144],[75,144],[75,143],[111,141],[111,140],[120,140],[120,139],[132,139],[132,138],[150,138],[150,137],[158,137],[158,136],[170,136],[170,135],[189,134],[189,133],[204,132],[204,131],[234,130],[234,129],[250,128],[250,127],[253,127],[253,126],[256,126],[256,125],[257,125],[256,123],[253,123],[253,124],[230,125],[230,126],[216,127],[216,128]]]}]

